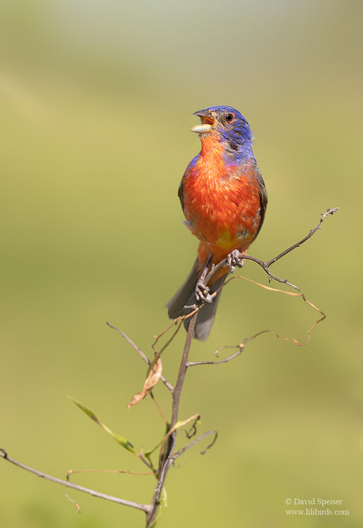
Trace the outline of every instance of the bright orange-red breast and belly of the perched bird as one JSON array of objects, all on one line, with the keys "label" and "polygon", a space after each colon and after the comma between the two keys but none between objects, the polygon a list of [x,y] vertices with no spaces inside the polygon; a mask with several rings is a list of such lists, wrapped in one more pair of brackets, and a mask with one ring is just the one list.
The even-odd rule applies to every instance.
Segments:
[{"label": "bright orange-red breast and belly of the perched bird", "polygon": [[259,171],[254,158],[241,165],[229,163],[217,137],[202,139],[199,156],[182,180],[184,215],[200,240],[203,269],[209,253],[213,263],[233,249],[244,252],[255,239],[261,222]]}]

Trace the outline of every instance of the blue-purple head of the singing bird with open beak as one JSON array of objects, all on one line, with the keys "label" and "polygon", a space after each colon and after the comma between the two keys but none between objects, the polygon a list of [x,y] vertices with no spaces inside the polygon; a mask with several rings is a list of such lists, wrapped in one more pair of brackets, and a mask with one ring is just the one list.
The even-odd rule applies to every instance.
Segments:
[{"label": "blue-purple head of the singing bird with open beak", "polygon": [[210,106],[198,110],[200,125],[191,130],[203,138],[210,135],[224,144],[224,153],[228,158],[253,158],[253,133],[243,115],[231,106]]}]

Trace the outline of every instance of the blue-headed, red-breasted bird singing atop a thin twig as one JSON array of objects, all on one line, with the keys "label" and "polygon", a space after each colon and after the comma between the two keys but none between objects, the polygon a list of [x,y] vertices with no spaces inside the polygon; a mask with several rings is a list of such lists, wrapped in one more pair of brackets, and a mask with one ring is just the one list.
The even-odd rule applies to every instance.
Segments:
[{"label": "blue-headed, red-breasted bird singing atop a thin twig", "polygon": [[[210,295],[222,286],[234,265],[241,267],[241,256],[265,218],[267,192],[253,156],[253,134],[243,115],[231,106],[210,106],[193,115],[200,118],[200,125],[191,130],[200,135],[202,148],[187,166],[178,195],[185,224],[200,243],[189,276],[167,308],[174,319],[191,312],[184,306],[207,301],[198,311],[193,332],[193,337],[205,341],[221,291],[213,299]],[[224,258],[229,265],[204,284],[205,273]],[[189,321],[184,321],[186,329]]]}]

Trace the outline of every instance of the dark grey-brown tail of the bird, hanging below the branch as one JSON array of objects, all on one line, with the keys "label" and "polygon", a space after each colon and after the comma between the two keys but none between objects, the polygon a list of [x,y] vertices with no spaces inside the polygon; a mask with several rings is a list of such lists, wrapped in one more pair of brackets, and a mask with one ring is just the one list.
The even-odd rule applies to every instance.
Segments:
[{"label": "dark grey-brown tail of the bird, hanging below the branch", "polygon": [[[192,311],[192,308],[184,308],[184,306],[191,306],[195,304],[196,301],[196,283],[200,276],[200,270],[198,269],[198,259],[191,268],[191,272],[186,281],[181,285],[177,293],[170,299],[167,303],[167,313],[170,319],[175,319],[180,315],[186,315]],[[210,294],[213,294],[217,289],[222,286],[227,273],[219,277],[215,282],[210,285]],[[222,293],[222,290],[217,293],[212,303],[205,303],[205,305],[200,308],[196,318],[196,326],[194,327],[193,337],[199,341],[205,341],[207,339],[210,329],[212,328],[213,321],[215,320],[215,312],[217,310],[217,304],[219,301],[219,296]],[[184,309],[183,309],[184,308]],[[184,327],[188,332],[190,318],[184,320]]]}]

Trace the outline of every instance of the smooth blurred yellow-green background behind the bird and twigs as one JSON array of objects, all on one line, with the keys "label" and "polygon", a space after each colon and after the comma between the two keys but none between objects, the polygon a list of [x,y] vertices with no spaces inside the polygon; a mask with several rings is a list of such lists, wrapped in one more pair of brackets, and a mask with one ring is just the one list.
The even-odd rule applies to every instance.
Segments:
[{"label": "smooth blurred yellow-green background behind the bird and twigs", "polygon": [[[106,320],[151,355],[165,303],[197,241],[179,180],[198,152],[193,111],[248,118],[269,206],[250,253],[269,259],[339,206],[273,272],[328,318],[306,347],[265,335],[233,363],[195,367],[181,417],[217,429],[167,479],[159,526],[362,527],[362,2],[2,0],[0,7],[0,444],[27,465],[143,471],[67,399],[137,449],[163,436],[151,400],[125,405],[145,367]],[[253,263],[243,275],[267,284]],[[234,281],[212,359],[261,329],[304,340],[316,313]],[[184,335],[164,357],[174,382]],[[165,411],[164,386],[155,391]],[[149,501],[151,477],[74,481]],[[72,493],[0,463],[0,526],[144,526],[136,510]],[[286,516],[286,498],[336,498],[345,517]]]}]

